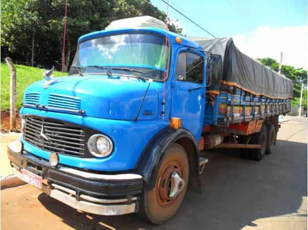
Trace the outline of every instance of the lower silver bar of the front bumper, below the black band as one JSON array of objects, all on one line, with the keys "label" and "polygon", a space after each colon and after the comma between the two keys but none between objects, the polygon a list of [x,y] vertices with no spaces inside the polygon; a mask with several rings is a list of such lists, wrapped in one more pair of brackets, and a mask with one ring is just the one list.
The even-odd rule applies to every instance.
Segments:
[{"label": "lower silver bar of the front bumper, below the black band", "polygon": [[[22,178],[22,173],[19,172],[14,167],[12,168],[13,173],[20,179]],[[80,211],[93,213],[97,215],[105,215],[105,216],[116,216],[123,215],[128,213],[135,213],[138,211],[138,201],[137,197],[133,197],[131,199],[130,204],[127,198],[123,199],[98,199],[95,197],[80,195],[80,200],[76,199],[76,192],[69,188],[63,187],[56,183],[52,183],[51,185],[42,184],[42,189],[44,193],[49,196],[59,200],[75,209]],[[88,202],[88,201],[91,202]],[[132,202],[135,201],[135,202]],[[114,203],[124,203],[124,204],[114,204]]]}]

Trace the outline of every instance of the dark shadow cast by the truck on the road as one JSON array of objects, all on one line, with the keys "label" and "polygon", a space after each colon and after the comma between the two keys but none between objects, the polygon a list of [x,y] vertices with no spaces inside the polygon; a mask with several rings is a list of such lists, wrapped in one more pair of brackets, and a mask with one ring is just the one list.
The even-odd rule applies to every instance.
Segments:
[{"label": "dark shadow cast by the truck on the road", "polygon": [[[174,218],[162,226],[135,214],[106,217],[77,210],[43,193],[39,201],[74,229],[241,229],[260,218],[296,213],[307,196],[307,144],[278,140],[271,155],[256,162],[235,150],[202,152],[202,195],[188,192]],[[103,227],[104,226],[104,227]]]}]

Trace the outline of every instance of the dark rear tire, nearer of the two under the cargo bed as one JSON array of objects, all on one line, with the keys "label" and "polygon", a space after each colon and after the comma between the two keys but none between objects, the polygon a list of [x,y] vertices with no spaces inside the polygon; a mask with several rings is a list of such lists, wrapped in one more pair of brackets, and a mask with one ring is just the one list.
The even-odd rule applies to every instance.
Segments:
[{"label": "dark rear tire, nearer of the two under the cargo bed", "polygon": [[261,145],[261,149],[251,149],[251,159],[261,161],[267,149],[267,129],[262,126],[261,131],[252,134],[251,144]]}]

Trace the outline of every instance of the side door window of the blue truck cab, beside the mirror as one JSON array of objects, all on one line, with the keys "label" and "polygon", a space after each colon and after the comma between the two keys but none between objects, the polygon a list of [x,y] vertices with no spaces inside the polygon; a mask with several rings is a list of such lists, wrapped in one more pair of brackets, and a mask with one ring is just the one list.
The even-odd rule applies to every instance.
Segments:
[{"label": "side door window of the blue truck cab, beside the mirror", "polygon": [[[191,70],[178,80],[190,81],[190,82],[202,84],[204,64],[201,63],[197,65],[201,61],[203,61],[203,58],[199,55],[196,55],[190,52],[180,53],[177,58],[177,64],[176,64],[176,79],[181,77],[188,70]],[[196,67],[193,68],[194,66]]]}]

